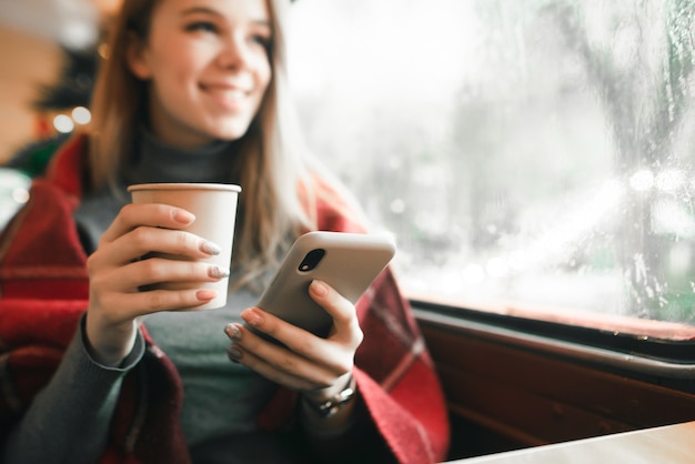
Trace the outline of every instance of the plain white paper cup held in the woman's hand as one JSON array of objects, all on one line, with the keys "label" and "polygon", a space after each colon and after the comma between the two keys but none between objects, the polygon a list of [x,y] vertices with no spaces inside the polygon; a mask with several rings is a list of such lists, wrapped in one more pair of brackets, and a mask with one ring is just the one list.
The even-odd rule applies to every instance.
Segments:
[{"label": "plain white paper cup held in the woman's hand", "polygon": [[[236,204],[241,188],[233,184],[218,183],[149,183],[130,185],[133,203],[160,203],[182,208],[195,214],[195,221],[185,229],[220,246],[218,255],[202,261],[216,264],[222,269],[230,269],[232,262],[232,244],[234,240],[234,223],[236,221]],[[178,259],[159,254],[161,258]],[[226,304],[229,279],[218,282],[162,282],[151,288],[167,290],[211,289],[218,295],[195,310],[213,310]]]}]

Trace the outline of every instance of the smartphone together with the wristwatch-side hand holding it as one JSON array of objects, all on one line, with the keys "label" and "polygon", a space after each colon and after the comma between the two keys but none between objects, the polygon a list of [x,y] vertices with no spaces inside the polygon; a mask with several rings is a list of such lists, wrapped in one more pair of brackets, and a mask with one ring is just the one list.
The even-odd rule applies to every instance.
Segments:
[{"label": "smartphone together with the wristwatch-side hand holding it", "polygon": [[383,235],[300,236],[258,307],[241,313],[245,323],[225,327],[230,359],[303,393],[314,405],[333,400],[349,385],[362,343],[354,304],[394,253]]}]

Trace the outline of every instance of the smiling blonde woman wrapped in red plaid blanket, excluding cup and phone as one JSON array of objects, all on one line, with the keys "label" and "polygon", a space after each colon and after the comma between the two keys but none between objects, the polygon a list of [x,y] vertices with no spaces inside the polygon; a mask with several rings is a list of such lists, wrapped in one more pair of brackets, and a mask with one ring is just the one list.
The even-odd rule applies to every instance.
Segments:
[{"label": "smiling blonde woman wrapped in red plaid blanket, excluding cup and phone", "polygon": [[[444,457],[440,385],[390,271],[356,307],[311,285],[334,320],[328,339],[253,307],[296,236],[365,231],[292,125],[285,8],[124,1],[90,131],[57,154],[0,241],[3,462]],[[142,182],[241,184],[233,268],[141,259],[218,249],[185,232],[187,211],[128,204],[127,185]],[[209,291],[143,290],[226,275],[221,310],[178,311]]]}]

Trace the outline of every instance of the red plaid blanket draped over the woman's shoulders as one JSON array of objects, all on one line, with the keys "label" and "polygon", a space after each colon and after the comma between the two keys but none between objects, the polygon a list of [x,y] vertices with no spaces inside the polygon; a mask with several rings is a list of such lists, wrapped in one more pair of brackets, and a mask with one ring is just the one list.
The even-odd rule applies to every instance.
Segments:
[{"label": "red plaid blanket draped over the woman's shoulders", "polygon": [[[72,221],[85,169],[75,137],[34,181],[26,208],[0,236],[0,441],[50,380],[87,309],[87,256]],[[322,230],[361,228],[325,189],[316,202]],[[424,341],[386,270],[356,304],[364,342],[354,376],[372,420],[401,463],[444,458],[446,407]],[[178,424],[181,381],[145,332],[144,359],[125,377],[102,463],[189,463]],[[259,417],[280,427],[295,411],[281,389]]]}]

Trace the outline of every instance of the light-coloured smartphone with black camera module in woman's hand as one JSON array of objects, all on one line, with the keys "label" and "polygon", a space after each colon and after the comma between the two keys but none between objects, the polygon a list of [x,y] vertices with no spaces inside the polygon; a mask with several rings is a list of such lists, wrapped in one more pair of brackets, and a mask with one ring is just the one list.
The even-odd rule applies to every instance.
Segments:
[{"label": "light-coloured smartphone with black camera module in woman's hand", "polygon": [[322,280],[355,303],[394,254],[385,235],[309,232],[291,246],[258,306],[325,337],[333,319],[309,295],[311,281]]}]

